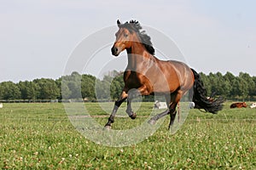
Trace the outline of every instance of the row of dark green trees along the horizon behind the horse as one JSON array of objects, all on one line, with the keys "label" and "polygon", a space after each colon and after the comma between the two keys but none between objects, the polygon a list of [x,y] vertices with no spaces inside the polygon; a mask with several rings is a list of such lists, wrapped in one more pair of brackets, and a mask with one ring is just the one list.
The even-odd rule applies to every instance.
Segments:
[{"label": "row of dark green trees along the horizon behind the horse", "polygon": [[[226,74],[200,73],[201,80],[207,89],[207,95],[212,94],[224,98],[255,99],[256,77],[240,72],[238,76]],[[94,76],[73,72],[71,75],[60,77],[56,80],[40,78],[32,81],[1,82],[0,99],[118,99],[124,87],[123,73],[111,71],[102,79]]]}]

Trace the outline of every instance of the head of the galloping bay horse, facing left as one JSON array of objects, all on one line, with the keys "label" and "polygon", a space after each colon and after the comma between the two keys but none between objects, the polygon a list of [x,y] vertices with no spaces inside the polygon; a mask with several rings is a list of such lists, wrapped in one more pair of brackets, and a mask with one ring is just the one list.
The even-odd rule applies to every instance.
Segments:
[{"label": "head of the galloping bay horse, facing left", "polygon": [[131,44],[136,36],[135,31],[129,29],[125,24],[121,24],[119,20],[117,20],[117,25],[119,26],[119,31],[115,33],[116,40],[111,48],[114,56],[118,56],[125,49],[131,48]]}]

